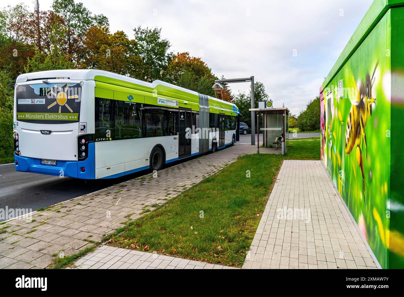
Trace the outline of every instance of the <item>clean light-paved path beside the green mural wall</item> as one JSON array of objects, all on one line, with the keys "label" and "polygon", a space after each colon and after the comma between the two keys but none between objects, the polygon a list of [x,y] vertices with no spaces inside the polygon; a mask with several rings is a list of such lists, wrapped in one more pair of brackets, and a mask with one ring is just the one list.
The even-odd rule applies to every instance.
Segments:
[{"label": "clean light-paved path beside the green mural wall", "polygon": [[[288,215],[290,209],[300,213]],[[285,160],[243,268],[370,269],[376,264],[321,161]]]}]

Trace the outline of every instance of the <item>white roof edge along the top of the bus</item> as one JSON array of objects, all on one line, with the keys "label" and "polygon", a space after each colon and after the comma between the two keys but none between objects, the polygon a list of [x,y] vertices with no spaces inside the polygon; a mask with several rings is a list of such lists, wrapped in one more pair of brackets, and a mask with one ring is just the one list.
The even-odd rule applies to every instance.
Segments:
[{"label": "white roof edge along the top of the bus", "polygon": [[[129,82],[132,84],[138,84],[138,85],[145,86],[145,87],[152,88],[152,89],[156,88],[159,85],[162,85],[162,86],[166,86],[168,88],[181,90],[183,92],[187,92],[189,94],[198,96],[198,92],[188,90],[188,89],[185,89],[185,88],[182,88],[179,86],[175,86],[173,84],[169,84],[169,83],[163,82],[161,80],[155,80],[152,83],[143,82],[142,80],[139,80],[139,79],[135,79],[135,78],[128,77],[125,75],[116,74],[116,73],[109,72],[109,71],[98,70],[98,69],[61,69],[61,70],[48,70],[48,71],[24,73],[24,74],[20,74],[17,77],[16,82],[21,83],[21,82],[27,82],[27,81],[32,81],[32,80],[58,79],[58,78],[71,79],[71,80],[96,80],[95,79],[96,76],[111,77],[113,79],[118,79],[118,80],[121,80],[124,82]],[[210,100],[233,105],[236,107],[236,105],[231,102],[220,100],[220,99],[214,98],[212,96],[208,96],[208,97]]]}]

